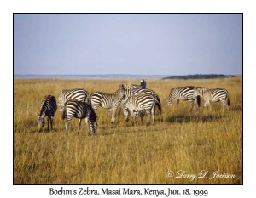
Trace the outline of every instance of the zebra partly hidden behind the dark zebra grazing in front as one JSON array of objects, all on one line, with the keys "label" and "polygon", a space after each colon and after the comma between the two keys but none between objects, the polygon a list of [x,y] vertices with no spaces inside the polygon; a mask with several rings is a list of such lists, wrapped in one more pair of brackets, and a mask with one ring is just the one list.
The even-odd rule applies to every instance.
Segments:
[{"label": "zebra partly hidden behind the dark zebra grazing in front", "polygon": [[69,99],[75,99],[90,104],[89,93],[86,90],[84,90],[84,88],[74,88],[71,90],[64,89],[61,91],[61,94],[59,96],[60,114],[62,114],[61,111],[64,108],[64,104]]}]

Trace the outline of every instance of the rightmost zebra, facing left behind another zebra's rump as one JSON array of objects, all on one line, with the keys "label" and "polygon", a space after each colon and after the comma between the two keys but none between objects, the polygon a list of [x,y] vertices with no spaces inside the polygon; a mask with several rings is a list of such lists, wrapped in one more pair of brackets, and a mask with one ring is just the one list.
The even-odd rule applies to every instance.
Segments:
[{"label": "rightmost zebra, facing left behind another zebra's rump", "polygon": [[210,101],[212,102],[222,102],[223,104],[223,110],[225,107],[229,109],[230,106],[230,98],[229,98],[229,92],[225,88],[202,88],[197,87],[195,88],[194,97],[201,96],[205,100],[205,105],[210,106]]}]

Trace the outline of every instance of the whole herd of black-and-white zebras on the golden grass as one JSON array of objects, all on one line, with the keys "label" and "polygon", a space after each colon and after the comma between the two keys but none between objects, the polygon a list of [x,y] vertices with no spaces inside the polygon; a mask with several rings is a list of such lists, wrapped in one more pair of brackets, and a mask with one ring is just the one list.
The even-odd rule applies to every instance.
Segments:
[{"label": "whole herd of black-and-white zebras on the golden grass", "polygon": [[[166,99],[167,105],[172,105],[172,100],[189,100],[191,110],[193,110],[194,103],[196,102],[199,107],[201,98],[205,100],[205,105],[210,105],[212,102],[221,102],[224,109],[230,106],[229,93],[225,88],[208,89],[203,87],[178,87],[172,88],[168,98]],[[96,133],[97,129],[97,116],[96,110],[101,106],[112,112],[111,122],[115,121],[116,110],[120,107],[128,121],[129,113],[132,118],[143,116],[143,111],[148,116],[148,124],[152,117],[154,124],[155,108],[158,107],[161,112],[160,98],[154,90],[146,88],[146,81],[142,80],[140,85],[120,84],[119,89],[115,93],[102,93],[96,92],[89,96],[89,93],[84,88],[75,88],[72,90],[62,90],[58,98],[58,105],[62,119],[66,119],[66,133],[68,134],[68,124],[73,117],[79,119],[79,129],[82,119],[85,119],[89,134]],[[53,95],[46,95],[40,105],[40,113],[38,116],[38,129],[44,127],[44,117],[48,116],[48,131],[49,123],[51,129],[53,128],[53,117],[57,110],[56,99]]]}]

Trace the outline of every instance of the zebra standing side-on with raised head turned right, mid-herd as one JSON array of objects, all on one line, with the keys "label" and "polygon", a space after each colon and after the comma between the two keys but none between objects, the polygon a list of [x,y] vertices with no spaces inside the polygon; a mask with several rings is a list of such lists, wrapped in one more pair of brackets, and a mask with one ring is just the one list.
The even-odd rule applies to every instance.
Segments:
[{"label": "zebra standing side-on with raised head turned right, mid-herd", "polygon": [[125,87],[123,84],[119,85],[119,89],[112,94],[96,92],[90,95],[91,107],[95,110],[102,106],[108,110],[112,110],[111,122],[114,122],[115,111],[121,104],[122,99],[125,98]]}]

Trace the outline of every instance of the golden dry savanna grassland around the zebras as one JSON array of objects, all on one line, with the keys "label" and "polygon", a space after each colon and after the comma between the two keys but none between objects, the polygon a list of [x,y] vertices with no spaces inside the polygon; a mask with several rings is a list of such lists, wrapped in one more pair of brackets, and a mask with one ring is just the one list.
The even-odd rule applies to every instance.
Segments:
[{"label": "golden dry savanna grassland around the zebras", "polygon": [[[162,114],[135,124],[118,110],[111,124],[107,110],[97,111],[96,135],[88,135],[78,119],[65,133],[59,109],[54,130],[38,133],[37,116],[46,94],[58,99],[62,89],[84,88],[113,93],[119,83],[139,80],[14,80],[14,184],[242,184],[242,78],[148,80],[159,94]],[[220,103],[195,108],[188,101],[166,105],[171,88],[194,85],[226,88],[230,109]],[[47,119],[45,119],[47,125]],[[196,177],[192,177],[194,175]],[[200,178],[199,176],[204,176]],[[177,178],[177,177],[180,178]],[[230,178],[230,176],[232,176]],[[189,177],[189,178],[187,178]]]}]

